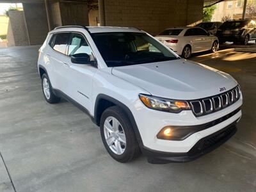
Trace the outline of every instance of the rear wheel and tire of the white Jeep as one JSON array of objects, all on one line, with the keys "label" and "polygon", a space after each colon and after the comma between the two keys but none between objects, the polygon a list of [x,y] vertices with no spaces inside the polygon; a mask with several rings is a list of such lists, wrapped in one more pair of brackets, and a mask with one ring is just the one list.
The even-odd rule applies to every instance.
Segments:
[{"label": "rear wheel and tire of the white Jeep", "polygon": [[57,97],[52,92],[51,82],[50,82],[49,77],[47,76],[47,74],[42,75],[41,83],[42,83],[42,91],[43,91],[45,100],[47,102],[49,102],[50,104],[60,102],[60,97]]}]

